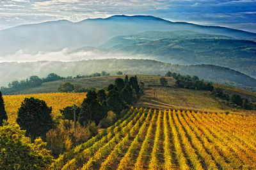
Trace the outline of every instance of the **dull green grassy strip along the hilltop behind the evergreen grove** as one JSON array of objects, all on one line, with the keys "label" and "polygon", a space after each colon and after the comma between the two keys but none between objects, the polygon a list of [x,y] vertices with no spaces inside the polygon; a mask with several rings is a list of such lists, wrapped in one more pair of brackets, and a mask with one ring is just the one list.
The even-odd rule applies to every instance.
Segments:
[{"label": "dull green grassy strip along the hilltop behind the evergreen grove", "polygon": [[[128,75],[131,77],[134,75]],[[102,77],[88,77],[88,78],[79,78],[79,79],[65,79],[61,81],[52,81],[52,82],[44,82],[41,86],[35,88],[24,89],[19,91],[21,94],[28,94],[28,93],[56,93],[58,86],[63,84],[64,82],[70,82],[72,84],[80,84],[83,88],[104,88],[109,84],[114,84],[115,79],[117,77],[121,77],[122,79],[125,78],[125,75],[109,75],[109,76],[102,76]],[[159,85],[159,79],[162,76],[158,75],[137,75],[138,82],[144,82],[145,85]],[[168,80],[168,85],[173,85],[175,80],[172,77],[166,77]]]}]

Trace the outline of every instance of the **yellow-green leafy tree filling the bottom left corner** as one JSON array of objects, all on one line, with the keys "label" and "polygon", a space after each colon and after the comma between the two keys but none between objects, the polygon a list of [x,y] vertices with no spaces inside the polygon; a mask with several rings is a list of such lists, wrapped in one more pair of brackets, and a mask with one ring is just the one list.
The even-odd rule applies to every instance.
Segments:
[{"label": "yellow-green leafy tree filling the bottom left corner", "polygon": [[4,122],[0,127],[0,169],[48,169],[52,162],[46,143],[29,144],[25,131]]}]

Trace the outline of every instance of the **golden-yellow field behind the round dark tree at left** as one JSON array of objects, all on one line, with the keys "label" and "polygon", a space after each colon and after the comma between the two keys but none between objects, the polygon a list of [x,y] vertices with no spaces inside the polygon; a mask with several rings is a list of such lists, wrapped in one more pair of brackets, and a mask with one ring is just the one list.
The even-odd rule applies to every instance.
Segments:
[{"label": "golden-yellow field behind the round dark tree at left", "polygon": [[60,114],[60,109],[64,107],[72,104],[81,105],[83,99],[86,98],[86,93],[38,93],[3,96],[9,122],[15,122],[21,102],[23,102],[25,98],[30,97],[44,100],[48,107],[52,107],[52,115],[58,115]]}]

